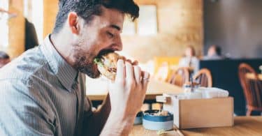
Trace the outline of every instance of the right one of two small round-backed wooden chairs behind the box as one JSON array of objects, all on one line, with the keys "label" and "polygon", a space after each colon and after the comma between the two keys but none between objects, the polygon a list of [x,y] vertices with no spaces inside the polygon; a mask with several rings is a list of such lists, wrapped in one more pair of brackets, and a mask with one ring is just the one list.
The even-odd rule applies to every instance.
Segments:
[{"label": "right one of two small round-backed wooden chairs behind the box", "polygon": [[193,77],[193,81],[200,84],[203,87],[212,87],[212,75],[208,68],[202,68]]}]

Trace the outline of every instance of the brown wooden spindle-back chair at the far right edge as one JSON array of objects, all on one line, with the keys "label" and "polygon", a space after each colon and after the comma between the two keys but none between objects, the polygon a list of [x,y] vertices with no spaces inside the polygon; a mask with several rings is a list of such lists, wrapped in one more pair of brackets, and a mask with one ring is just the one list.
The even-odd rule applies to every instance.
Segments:
[{"label": "brown wooden spindle-back chair at the far right edge", "polygon": [[[248,78],[247,74],[254,75],[254,78]],[[259,80],[258,74],[247,63],[241,63],[238,67],[238,76],[247,103],[246,115],[250,116],[252,111],[262,112],[262,81]]]}]

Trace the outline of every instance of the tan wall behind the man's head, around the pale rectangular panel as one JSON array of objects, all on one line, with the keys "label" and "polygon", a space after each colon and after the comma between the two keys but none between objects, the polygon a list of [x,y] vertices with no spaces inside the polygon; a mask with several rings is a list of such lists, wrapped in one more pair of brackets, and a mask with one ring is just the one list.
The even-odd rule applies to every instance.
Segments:
[{"label": "tan wall behind the man's head, around the pale rectangular panel", "polygon": [[[203,48],[203,0],[136,0],[140,4],[156,4],[158,29],[156,36],[123,36],[124,52],[138,61],[154,56],[181,56],[187,45]],[[44,35],[52,32],[57,13],[57,0],[44,0]]]}]

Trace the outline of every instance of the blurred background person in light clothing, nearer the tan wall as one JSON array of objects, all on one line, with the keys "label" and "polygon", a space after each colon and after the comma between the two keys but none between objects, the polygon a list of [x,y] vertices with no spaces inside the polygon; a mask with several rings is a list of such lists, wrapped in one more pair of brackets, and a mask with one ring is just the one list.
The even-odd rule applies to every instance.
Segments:
[{"label": "blurred background person in light clothing, nearer the tan wall", "polygon": [[187,46],[184,51],[184,56],[180,59],[178,66],[179,67],[188,67],[193,70],[193,73],[198,71],[199,59],[196,57],[196,51],[193,46]]}]

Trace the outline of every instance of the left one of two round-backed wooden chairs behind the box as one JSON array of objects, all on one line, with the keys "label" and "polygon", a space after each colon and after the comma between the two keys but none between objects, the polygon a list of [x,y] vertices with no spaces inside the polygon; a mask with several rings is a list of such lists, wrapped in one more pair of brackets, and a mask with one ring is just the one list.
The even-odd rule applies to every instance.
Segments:
[{"label": "left one of two round-backed wooden chairs behind the box", "polygon": [[183,86],[185,82],[189,82],[189,68],[181,67],[174,70],[168,82],[177,86]]}]

